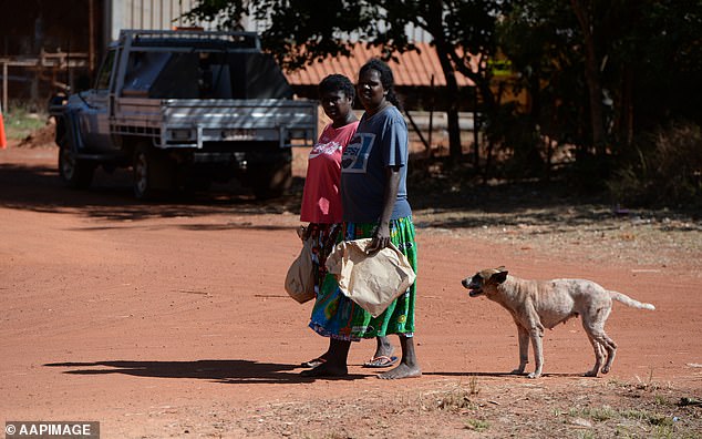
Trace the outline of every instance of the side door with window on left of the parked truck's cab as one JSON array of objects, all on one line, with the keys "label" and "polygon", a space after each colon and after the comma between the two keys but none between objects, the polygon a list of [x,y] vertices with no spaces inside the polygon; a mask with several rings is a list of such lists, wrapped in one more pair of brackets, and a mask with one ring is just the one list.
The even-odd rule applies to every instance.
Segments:
[{"label": "side door with window on left of the parked truck's cab", "polygon": [[107,52],[100,68],[95,88],[83,92],[85,106],[81,114],[81,131],[85,146],[91,150],[110,150],[109,95],[110,78],[114,65],[115,50]]}]

